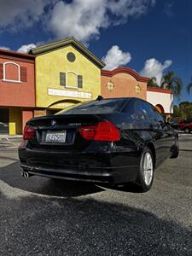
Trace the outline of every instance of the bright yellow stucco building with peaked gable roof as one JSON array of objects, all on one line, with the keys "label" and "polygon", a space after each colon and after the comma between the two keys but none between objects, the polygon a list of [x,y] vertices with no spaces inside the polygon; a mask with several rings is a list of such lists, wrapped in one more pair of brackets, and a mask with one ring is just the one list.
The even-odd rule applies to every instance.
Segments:
[{"label": "bright yellow stucco building with peaked gable roof", "polygon": [[35,116],[101,95],[101,69],[105,64],[75,38],[37,47],[31,53],[36,55]]}]

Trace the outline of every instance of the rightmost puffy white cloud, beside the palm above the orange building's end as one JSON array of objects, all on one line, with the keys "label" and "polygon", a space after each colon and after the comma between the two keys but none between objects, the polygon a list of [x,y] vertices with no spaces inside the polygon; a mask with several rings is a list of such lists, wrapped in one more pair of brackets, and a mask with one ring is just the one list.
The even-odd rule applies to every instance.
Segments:
[{"label": "rightmost puffy white cloud, beside the palm above the orange building's end", "polygon": [[171,60],[167,60],[164,63],[160,63],[160,61],[151,58],[145,61],[145,66],[143,67],[143,70],[140,73],[141,75],[146,76],[148,78],[155,77],[157,79],[157,84],[160,85],[160,80],[163,76],[164,70],[167,67],[170,67],[171,65]]}]

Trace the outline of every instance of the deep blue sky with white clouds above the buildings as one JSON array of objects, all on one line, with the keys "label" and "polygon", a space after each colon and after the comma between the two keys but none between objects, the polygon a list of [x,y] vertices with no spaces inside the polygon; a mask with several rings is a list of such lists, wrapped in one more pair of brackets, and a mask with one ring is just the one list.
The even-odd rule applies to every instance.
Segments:
[{"label": "deep blue sky with white clouds above the buildings", "polygon": [[[0,0],[0,48],[27,52],[73,36],[107,65],[183,79],[192,102],[192,0]],[[175,100],[177,103],[177,100]]]}]

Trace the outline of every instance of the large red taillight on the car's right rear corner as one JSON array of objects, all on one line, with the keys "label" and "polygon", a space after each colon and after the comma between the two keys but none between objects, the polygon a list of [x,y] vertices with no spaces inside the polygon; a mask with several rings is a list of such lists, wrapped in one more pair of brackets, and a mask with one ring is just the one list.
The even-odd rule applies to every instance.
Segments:
[{"label": "large red taillight on the car's right rear corner", "polygon": [[82,126],[79,132],[86,140],[92,141],[119,141],[119,130],[109,121],[102,121],[96,125]]}]

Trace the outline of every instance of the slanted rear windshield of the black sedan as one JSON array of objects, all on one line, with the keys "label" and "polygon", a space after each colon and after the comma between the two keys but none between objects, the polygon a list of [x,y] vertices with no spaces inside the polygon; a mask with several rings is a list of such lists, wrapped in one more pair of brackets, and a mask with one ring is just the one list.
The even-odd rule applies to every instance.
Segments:
[{"label": "slanted rear windshield of the black sedan", "polygon": [[109,99],[94,102],[85,102],[65,108],[56,114],[99,114],[119,112],[127,100]]}]

